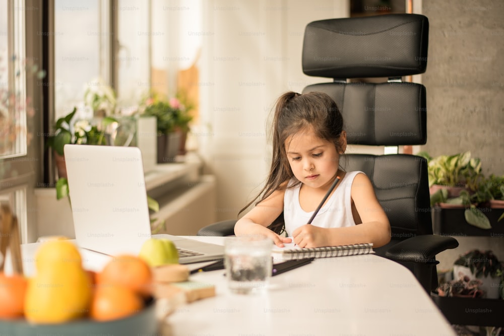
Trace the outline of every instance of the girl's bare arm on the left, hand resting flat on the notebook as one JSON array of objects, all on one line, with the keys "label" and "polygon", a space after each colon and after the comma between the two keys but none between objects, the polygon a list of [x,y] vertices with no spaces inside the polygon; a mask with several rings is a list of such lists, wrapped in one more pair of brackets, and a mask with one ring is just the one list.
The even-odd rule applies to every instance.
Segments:
[{"label": "girl's bare arm on the left, hand resting flat on the notebook", "polygon": [[290,243],[290,238],[281,237],[267,228],[283,211],[284,193],[284,190],[276,190],[258,203],[236,222],[234,233],[237,236],[263,234],[273,239],[275,245],[280,247],[284,246],[283,243]]}]

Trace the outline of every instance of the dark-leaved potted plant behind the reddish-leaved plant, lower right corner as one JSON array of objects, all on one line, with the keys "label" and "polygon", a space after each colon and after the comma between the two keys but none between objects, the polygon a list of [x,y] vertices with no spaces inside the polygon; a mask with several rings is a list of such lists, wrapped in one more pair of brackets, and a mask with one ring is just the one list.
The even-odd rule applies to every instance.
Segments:
[{"label": "dark-leaved potted plant behind the reddish-leaved plant, lower right corner", "polygon": [[461,255],[453,266],[454,279],[467,277],[470,280],[480,280],[479,287],[489,299],[497,299],[501,294],[502,270],[502,263],[491,250],[470,250]]}]

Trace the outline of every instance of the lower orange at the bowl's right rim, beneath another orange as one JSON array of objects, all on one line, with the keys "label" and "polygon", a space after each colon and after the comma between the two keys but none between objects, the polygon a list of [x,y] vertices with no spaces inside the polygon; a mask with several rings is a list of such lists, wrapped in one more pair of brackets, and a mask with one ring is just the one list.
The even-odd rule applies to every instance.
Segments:
[{"label": "lower orange at the bowl's right rim, beneath another orange", "polygon": [[144,307],[141,296],[121,285],[99,286],[96,288],[89,315],[97,321],[109,321],[127,317]]}]

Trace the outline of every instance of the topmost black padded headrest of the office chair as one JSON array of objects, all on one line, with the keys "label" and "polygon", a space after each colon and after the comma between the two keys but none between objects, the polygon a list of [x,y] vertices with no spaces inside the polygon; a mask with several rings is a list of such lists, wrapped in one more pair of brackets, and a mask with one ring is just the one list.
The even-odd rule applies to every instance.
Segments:
[{"label": "topmost black padded headrest of the office chair", "polygon": [[313,21],[302,66],[308,76],[401,77],[425,72],[429,22],[419,14]]}]

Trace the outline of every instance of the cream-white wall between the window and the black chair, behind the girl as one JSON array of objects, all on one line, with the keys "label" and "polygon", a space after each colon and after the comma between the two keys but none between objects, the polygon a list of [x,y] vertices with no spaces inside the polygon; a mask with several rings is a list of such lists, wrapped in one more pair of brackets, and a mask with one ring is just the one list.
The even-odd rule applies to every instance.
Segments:
[{"label": "cream-white wall between the window and the black chair, behind the girl", "polygon": [[217,220],[236,218],[266,179],[266,121],[276,98],[287,90],[300,92],[306,85],[330,81],[302,73],[306,24],[348,16],[346,1],[203,2],[203,127],[195,130],[195,138],[217,177]]}]

